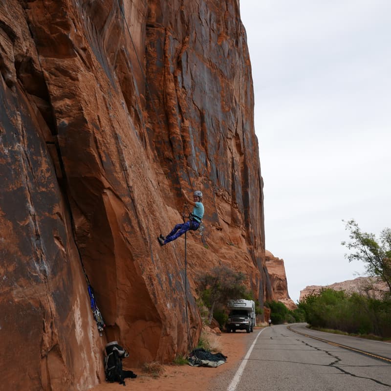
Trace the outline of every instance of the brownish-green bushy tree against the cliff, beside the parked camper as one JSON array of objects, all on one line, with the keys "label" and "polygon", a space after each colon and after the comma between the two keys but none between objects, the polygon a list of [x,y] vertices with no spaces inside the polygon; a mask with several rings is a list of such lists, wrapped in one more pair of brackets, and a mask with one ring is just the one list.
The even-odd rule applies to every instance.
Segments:
[{"label": "brownish-green bushy tree against the cliff, beside the parked camper", "polygon": [[242,299],[247,294],[245,279],[243,273],[236,273],[227,266],[214,267],[210,273],[198,277],[197,293],[209,308],[209,324],[217,304],[223,306],[228,300]]}]

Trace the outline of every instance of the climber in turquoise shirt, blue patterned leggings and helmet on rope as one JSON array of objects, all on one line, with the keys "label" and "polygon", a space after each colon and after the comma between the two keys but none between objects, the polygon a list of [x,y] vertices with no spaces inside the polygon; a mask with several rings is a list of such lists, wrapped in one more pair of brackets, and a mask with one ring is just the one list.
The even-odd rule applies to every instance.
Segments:
[{"label": "climber in turquoise shirt, blue patterned leggings and helmet on rope", "polygon": [[196,190],[193,195],[193,201],[190,200],[184,190],[182,190],[182,194],[186,200],[186,202],[190,205],[193,205],[193,212],[190,214],[189,220],[182,223],[176,224],[173,230],[167,235],[160,236],[157,238],[161,246],[164,246],[170,241],[173,241],[183,235],[185,232],[192,230],[196,231],[201,223],[202,217],[204,216],[204,206],[202,205],[202,192]]}]

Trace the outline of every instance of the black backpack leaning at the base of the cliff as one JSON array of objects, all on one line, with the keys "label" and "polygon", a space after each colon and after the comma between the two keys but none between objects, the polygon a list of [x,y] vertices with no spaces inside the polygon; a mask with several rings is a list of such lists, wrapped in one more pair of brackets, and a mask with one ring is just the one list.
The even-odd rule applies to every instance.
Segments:
[{"label": "black backpack leaning at the base of the cliff", "polygon": [[105,347],[106,381],[119,382],[125,386],[125,378],[135,378],[137,375],[131,370],[122,369],[122,359],[129,357],[129,353],[118,345],[117,341],[109,342]]}]

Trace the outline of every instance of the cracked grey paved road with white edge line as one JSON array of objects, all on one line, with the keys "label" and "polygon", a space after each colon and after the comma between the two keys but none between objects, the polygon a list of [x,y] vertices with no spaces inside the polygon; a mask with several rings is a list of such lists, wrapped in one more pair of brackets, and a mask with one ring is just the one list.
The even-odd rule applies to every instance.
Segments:
[{"label": "cracked grey paved road with white edge line", "polygon": [[[312,331],[302,324],[290,327],[303,334],[391,359],[391,344],[388,343]],[[281,325],[266,327],[261,333],[254,330],[251,336],[237,333],[235,337],[245,338],[249,348],[253,344],[251,354],[241,361],[239,368],[219,376],[212,390],[391,390],[391,362],[330,345],[292,330]]]}]

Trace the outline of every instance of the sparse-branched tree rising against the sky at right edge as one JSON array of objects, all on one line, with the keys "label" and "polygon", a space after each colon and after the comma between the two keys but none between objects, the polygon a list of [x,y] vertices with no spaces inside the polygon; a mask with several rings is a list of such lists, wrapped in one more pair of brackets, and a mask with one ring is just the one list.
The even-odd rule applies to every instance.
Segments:
[{"label": "sparse-branched tree rising against the sky at right edge", "polygon": [[380,277],[391,291],[391,229],[383,229],[379,241],[374,234],[362,232],[355,220],[346,222],[346,230],[350,241],[341,244],[354,252],[345,254],[345,258],[349,262],[363,261],[367,273]]}]

